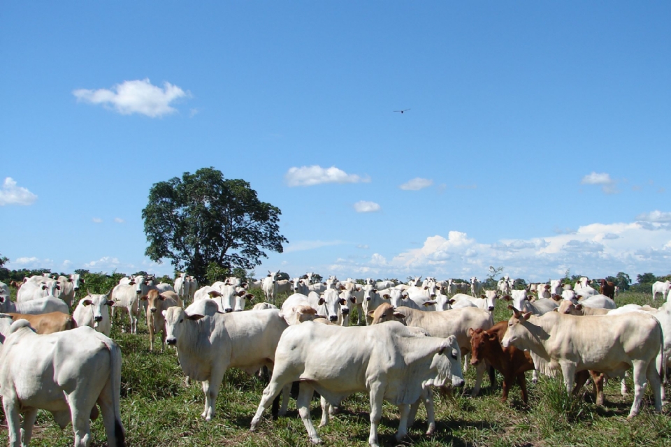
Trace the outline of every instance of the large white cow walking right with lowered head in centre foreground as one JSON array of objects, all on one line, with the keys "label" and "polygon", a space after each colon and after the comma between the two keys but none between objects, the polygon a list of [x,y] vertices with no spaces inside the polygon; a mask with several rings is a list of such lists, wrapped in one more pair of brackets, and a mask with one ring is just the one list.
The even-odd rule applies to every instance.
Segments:
[{"label": "large white cow walking right with lowered head in centre foreground", "polygon": [[368,444],[373,447],[378,445],[382,401],[398,405],[401,420],[396,439],[400,441],[407,433],[410,405],[426,395],[424,389],[429,383],[463,385],[457,346],[454,337],[426,337],[396,322],[338,328],[308,321],[291,326],[277,346],[275,371],[264,389],[250,430],[257,429],[264,410],[282,388],[300,381],[296,406],[313,443],[321,442],[310,420],[310,400],[315,390],[323,397],[322,425],[329,422],[328,404],[338,406],[353,393],[367,392]]}]

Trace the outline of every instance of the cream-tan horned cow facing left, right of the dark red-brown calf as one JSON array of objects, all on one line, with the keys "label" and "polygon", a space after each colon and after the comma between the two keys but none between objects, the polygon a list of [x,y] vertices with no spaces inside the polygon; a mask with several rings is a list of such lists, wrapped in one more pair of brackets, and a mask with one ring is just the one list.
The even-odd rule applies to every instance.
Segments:
[{"label": "cream-tan horned cow facing left, right of the dark red-brown calf", "polygon": [[558,312],[534,316],[517,309],[513,312],[501,341],[503,347],[514,345],[530,351],[536,369],[544,374],[561,371],[568,393],[576,372],[591,369],[610,377],[623,377],[633,366],[635,389],[629,418],[639,412],[646,378],[655,397],[655,409],[662,410],[655,358],[663,334],[654,316],[639,312],[589,317]]}]

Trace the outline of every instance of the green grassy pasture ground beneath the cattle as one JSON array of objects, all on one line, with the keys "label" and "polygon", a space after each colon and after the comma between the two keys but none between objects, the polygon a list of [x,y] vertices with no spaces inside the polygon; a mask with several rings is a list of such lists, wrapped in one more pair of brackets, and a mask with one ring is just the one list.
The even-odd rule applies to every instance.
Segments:
[{"label": "green grassy pasture ground beneath the cattle", "polygon": [[[254,291],[261,298],[260,291]],[[284,298],[284,297],[282,297]],[[618,305],[630,302],[652,304],[649,294],[623,293]],[[657,301],[655,305],[660,305]],[[507,319],[507,303],[496,304],[496,321]],[[184,375],[174,349],[165,353],[149,351],[147,329],[142,321],[138,335],[120,333],[113,326],[112,337],[122,347],[121,414],[129,446],[308,446],[305,427],[298,418],[295,401],[289,404],[287,417],[266,418],[255,433],[249,431],[264,383],[238,369],[229,369],[217,399],[217,413],[209,422],[201,419],[203,391],[200,383],[184,385]],[[507,403],[500,402],[500,381],[496,389],[484,379],[481,395],[468,394],[475,381],[475,371],[464,374],[466,387],[452,396],[435,394],[437,430],[426,437],[426,413],[420,407],[417,422],[400,445],[405,446],[671,446],[671,406],[656,414],[651,393],[646,393],[642,412],[628,421],[633,395],[619,394],[619,381],[605,386],[606,405],[596,406],[591,396],[582,393],[573,400],[563,392],[556,379],[540,376],[536,385],[528,372],[530,405],[521,402],[519,388],[513,387]],[[630,388],[633,384],[629,379]],[[584,388],[585,392],[588,388]],[[589,388],[591,390],[591,387]],[[666,386],[671,396],[671,386]],[[312,402],[312,420],[319,424],[319,401]],[[0,427],[0,444],[7,443],[4,416]],[[399,445],[394,440],[398,427],[398,409],[384,404],[380,423],[380,444]],[[324,446],[367,446],[368,397],[357,394],[342,404],[341,412],[328,427],[318,428]],[[101,420],[92,423],[92,446],[105,446]],[[41,411],[36,423],[32,446],[71,446],[71,425],[60,430],[50,413]]]}]

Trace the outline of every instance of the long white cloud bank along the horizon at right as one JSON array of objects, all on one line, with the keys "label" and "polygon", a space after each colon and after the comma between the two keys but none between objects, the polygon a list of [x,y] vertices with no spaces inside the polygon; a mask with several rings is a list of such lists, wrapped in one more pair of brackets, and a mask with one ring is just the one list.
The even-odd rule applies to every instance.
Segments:
[{"label": "long white cloud bank along the horizon at right", "polygon": [[[652,220],[663,220],[650,213]],[[663,216],[663,214],[661,214]],[[655,217],[657,216],[657,217]],[[341,275],[408,275],[440,278],[485,277],[489,265],[503,266],[504,273],[527,281],[562,277],[565,270],[588,277],[617,272],[665,274],[671,263],[671,225],[665,221],[591,223],[569,234],[498,240],[482,243],[452,230],[447,237],[426,237],[421,248],[401,251],[390,261],[374,254],[366,261],[352,256],[331,265]]]}]

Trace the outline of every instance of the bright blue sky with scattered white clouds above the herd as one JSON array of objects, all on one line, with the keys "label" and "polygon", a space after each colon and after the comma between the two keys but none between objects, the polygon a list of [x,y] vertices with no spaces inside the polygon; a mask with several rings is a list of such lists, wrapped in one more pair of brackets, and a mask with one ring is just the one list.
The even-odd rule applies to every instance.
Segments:
[{"label": "bright blue sky with scattered white clouds above the herd", "polygon": [[[282,210],[256,269],[668,274],[671,3],[4,2],[0,253],[171,273],[155,182]],[[401,115],[394,110],[410,108]]]}]

